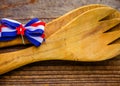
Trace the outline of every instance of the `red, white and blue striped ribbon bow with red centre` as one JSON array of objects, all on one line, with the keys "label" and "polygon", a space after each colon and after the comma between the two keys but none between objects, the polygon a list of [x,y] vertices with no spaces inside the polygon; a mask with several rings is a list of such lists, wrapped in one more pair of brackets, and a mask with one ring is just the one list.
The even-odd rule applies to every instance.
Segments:
[{"label": "red, white and blue striped ribbon bow with red centre", "polygon": [[3,18],[0,20],[0,41],[9,41],[17,35],[25,36],[35,46],[40,46],[44,41],[45,23],[38,18],[34,18],[26,25],[20,22]]}]

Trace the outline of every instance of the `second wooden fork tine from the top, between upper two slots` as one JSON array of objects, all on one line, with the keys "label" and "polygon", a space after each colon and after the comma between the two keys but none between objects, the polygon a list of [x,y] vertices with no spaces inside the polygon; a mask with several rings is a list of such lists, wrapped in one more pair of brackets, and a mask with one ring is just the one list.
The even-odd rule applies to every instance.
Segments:
[{"label": "second wooden fork tine from the top, between upper two slots", "polygon": [[111,20],[101,21],[98,28],[100,28],[101,32],[106,32],[118,24],[120,24],[120,18],[114,18]]}]

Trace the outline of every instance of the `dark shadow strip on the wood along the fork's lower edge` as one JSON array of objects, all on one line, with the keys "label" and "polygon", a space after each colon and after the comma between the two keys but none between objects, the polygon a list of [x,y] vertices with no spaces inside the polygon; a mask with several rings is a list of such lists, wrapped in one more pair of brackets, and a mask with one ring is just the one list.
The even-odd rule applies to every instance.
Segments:
[{"label": "dark shadow strip on the wood along the fork's lower edge", "polygon": [[[63,60],[50,60],[50,61],[40,61],[25,65],[3,75],[0,75],[0,79],[4,78],[4,76],[11,76],[14,74],[21,73],[21,71],[103,71],[103,70],[116,70],[116,67],[120,65],[120,55],[115,58],[99,61],[99,62],[80,62],[80,61],[63,61]],[[118,69],[119,70],[119,69]]]}]

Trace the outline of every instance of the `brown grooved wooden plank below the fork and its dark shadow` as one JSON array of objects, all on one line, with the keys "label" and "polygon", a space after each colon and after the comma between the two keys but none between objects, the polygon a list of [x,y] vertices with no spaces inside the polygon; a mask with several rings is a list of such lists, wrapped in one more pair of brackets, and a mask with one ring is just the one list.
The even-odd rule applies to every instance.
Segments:
[{"label": "brown grooved wooden plank below the fork and its dark shadow", "polygon": [[[78,83],[78,84],[115,83],[116,84],[118,83],[119,84],[120,71],[115,69],[112,70],[114,66],[107,66],[107,65],[105,67],[89,66],[89,65],[85,66],[84,64],[82,65],[76,64],[74,66],[64,66],[65,63],[63,66],[57,66],[57,63],[55,64],[54,62],[52,61],[49,63],[53,63],[56,66],[47,66],[48,64],[45,66],[40,66],[41,62],[38,62],[38,63],[35,63],[34,65],[30,64],[29,66],[31,68],[28,66],[19,68],[16,71],[12,71],[11,73],[5,74],[5,76],[3,76],[0,79],[0,84],[3,84],[3,83],[32,84],[33,79],[34,79],[34,83],[36,84],[45,84],[45,83],[55,84],[56,81],[58,81],[57,84],[60,84],[60,83],[65,83],[65,84],[66,83],[67,84],[71,84],[71,83]],[[59,61],[58,63],[60,62],[61,61]],[[110,70],[106,68],[109,68]],[[117,66],[117,68],[119,69],[120,67]],[[99,81],[96,80],[97,78],[99,78]]]}]

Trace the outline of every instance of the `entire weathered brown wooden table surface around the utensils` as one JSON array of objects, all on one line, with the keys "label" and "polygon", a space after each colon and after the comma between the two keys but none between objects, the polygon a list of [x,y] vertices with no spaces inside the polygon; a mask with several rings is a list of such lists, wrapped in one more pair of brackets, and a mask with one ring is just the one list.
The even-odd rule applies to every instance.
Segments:
[{"label": "entire weathered brown wooden table surface around the utensils", "polygon": [[[38,17],[49,22],[72,9],[92,3],[107,4],[120,10],[120,0],[0,0],[0,18],[7,17],[26,23]],[[0,49],[0,53],[25,47]],[[32,63],[1,75],[0,86],[9,85],[120,86],[120,56],[94,63],[72,61]]]}]

